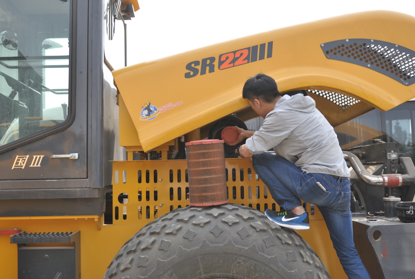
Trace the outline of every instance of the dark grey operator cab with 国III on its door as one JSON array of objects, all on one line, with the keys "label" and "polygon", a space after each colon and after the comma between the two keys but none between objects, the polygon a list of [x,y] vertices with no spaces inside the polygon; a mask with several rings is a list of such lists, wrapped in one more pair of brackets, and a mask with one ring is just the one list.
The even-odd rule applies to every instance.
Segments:
[{"label": "dark grey operator cab with \u56fdIII on its door", "polygon": [[110,161],[126,157],[111,70],[126,66],[125,21],[138,9],[0,1],[0,216],[105,211]]}]

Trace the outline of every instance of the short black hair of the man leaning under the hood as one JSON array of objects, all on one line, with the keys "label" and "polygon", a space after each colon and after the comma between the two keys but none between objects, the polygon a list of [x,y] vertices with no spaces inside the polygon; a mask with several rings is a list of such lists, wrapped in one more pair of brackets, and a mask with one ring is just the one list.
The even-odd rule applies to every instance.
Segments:
[{"label": "short black hair of the man leaning under the hood", "polygon": [[242,98],[251,102],[261,99],[265,103],[271,103],[276,97],[281,96],[277,83],[271,76],[256,74],[249,78],[242,89]]}]

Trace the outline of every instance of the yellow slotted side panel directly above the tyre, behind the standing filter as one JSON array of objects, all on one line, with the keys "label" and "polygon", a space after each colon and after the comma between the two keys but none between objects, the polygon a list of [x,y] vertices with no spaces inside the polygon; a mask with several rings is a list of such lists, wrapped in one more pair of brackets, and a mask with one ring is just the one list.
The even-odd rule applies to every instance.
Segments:
[{"label": "yellow slotted side panel directly above the tyre, behind the standing filter", "polygon": [[[247,159],[225,159],[225,167],[229,203],[279,210]],[[147,224],[189,205],[186,160],[116,161],[112,170],[113,224]],[[310,220],[323,220],[317,207]]]}]

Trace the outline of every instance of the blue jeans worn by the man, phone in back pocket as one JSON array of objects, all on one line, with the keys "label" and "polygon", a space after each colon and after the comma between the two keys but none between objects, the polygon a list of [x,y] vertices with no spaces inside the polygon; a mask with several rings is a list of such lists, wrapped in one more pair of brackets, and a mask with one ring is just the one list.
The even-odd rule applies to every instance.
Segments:
[{"label": "blue jeans worn by the man, phone in back pocket", "polygon": [[[370,279],[354,248],[349,179],[306,173],[292,162],[266,152],[254,155],[252,166],[272,198],[284,210],[301,206],[300,199],[317,205],[349,279]],[[316,182],[320,182],[326,191]]]}]

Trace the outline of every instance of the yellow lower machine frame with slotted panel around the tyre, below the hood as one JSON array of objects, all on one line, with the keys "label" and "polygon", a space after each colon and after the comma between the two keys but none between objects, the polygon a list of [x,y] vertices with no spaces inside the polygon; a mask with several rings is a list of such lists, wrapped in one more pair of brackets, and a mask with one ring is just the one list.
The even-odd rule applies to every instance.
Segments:
[{"label": "yellow lower machine frame with slotted panel around the tyre, below the hood", "polygon": [[[259,208],[261,211],[264,211],[265,205],[272,208],[274,204],[276,210],[279,210],[278,204],[271,198],[261,179],[256,180],[255,171],[247,159],[226,159],[225,166],[228,173],[229,203],[250,206],[254,209]],[[186,187],[188,187],[186,169],[186,160],[113,162],[112,225],[103,224],[103,215],[0,217],[0,224],[2,227],[18,228],[21,231],[30,232],[81,231],[82,278],[100,279],[114,255],[131,236],[155,218],[170,212],[171,208],[176,209],[189,204],[186,196]],[[235,169],[234,174],[233,169]],[[241,181],[241,169],[243,181]],[[249,175],[248,169],[251,169],[251,175]],[[147,170],[149,183],[146,182]],[[154,170],[157,171],[156,183],[154,182]],[[173,171],[173,182],[170,182],[171,170]],[[178,170],[181,171],[181,182],[178,182]],[[141,172],[141,183],[139,183],[139,171]],[[243,198],[241,196],[241,186],[243,186]],[[173,188],[173,197],[170,196],[170,188]],[[141,201],[139,201],[139,191],[141,191]],[[157,191],[157,200],[154,198],[154,191]],[[181,200],[178,200],[178,191],[181,192]],[[128,195],[128,201],[125,204],[123,203],[126,200],[122,200],[123,203],[118,201],[118,196],[122,193]],[[146,200],[147,196],[148,200]],[[124,206],[126,207],[125,219]],[[118,219],[115,218],[115,207],[119,208]],[[141,207],[141,216],[139,216],[139,207]],[[149,207],[150,210],[149,219],[146,218],[146,207]],[[156,214],[154,214],[155,207],[157,207]],[[314,215],[311,215],[310,204],[307,204],[306,207],[310,213],[311,229],[298,231],[299,234],[319,255],[332,278],[346,279],[346,274],[344,274],[329,240],[329,232],[320,211],[317,207],[314,207]],[[51,244],[27,244],[27,246],[30,245],[51,246]],[[59,246],[62,246],[62,244],[59,243]],[[17,278],[16,244],[10,244],[9,235],[0,235],[0,247],[2,249],[2,253],[0,253],[0,269],[2,270],[0,278]]]}]

